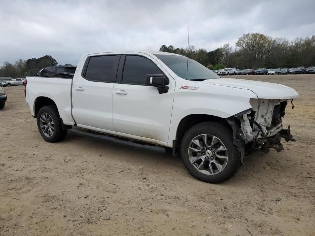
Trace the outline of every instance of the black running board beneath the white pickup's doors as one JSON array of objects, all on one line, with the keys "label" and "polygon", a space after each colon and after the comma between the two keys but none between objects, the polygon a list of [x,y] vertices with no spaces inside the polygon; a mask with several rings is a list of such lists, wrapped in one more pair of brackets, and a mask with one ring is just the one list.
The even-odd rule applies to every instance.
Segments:
[{"label": "black running board beneath the white pickup's doors", "polygon": [[85,130],[77,127],[72,127],[72,129],[69,130],[72,134],[78,135],[78,136],[83,136],[83,137],[90,137],[93,139],[97,140],[103,140],[103,141],[109,141],[116,143],[118,145],[123,145],[123,146],[129,146],[133,148],[141,148],[141,149],[149,149],[149,150],[154,150],[154,151],[164,151],[165,148],[154,145],[154,144],[148,144],[144,143],[141,141],[137,140],[132,140],[132,139],[127,139],[127,138],[122,138],[118,136],[113,136],[113,135],[108,135],[108,134],[102,134],[90,130]]}]

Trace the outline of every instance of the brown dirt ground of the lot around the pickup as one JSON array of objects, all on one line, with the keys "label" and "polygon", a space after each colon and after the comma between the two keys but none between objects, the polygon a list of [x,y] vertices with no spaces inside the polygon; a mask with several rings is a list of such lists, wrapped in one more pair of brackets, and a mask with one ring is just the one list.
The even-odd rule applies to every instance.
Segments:
[{"label": "brown dirt ground of the lot around the pickup", "polygon": [[299,92],[284,118],[296,142],[284,142],[281,153],[247,156],[244,170],[221,184],[193,178],[163,149],[73,134],[47,143],[24,87],[5,87],[0,236],[314,236],[315,75],[235,77]]}]

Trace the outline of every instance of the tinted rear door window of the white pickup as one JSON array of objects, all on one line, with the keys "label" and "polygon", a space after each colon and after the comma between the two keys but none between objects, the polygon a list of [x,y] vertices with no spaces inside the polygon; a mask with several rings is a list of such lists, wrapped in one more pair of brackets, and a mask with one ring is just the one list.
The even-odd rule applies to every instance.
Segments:
[{"label": "tinted rear door window of the white pickup", "polygon": [[97,82],[115,82],[120,55],[93,56],[88,58],[84,78]]}]

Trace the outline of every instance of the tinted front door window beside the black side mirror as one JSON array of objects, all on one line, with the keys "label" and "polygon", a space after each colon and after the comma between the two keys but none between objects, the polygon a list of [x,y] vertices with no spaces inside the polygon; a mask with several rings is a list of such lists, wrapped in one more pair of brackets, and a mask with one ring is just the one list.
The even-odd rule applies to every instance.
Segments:
[{"label": "tinted front door window beside the black side mirror", "polygon": [[151,60],[135,55],[127,55],[122,82],[126,84],[145,85],[147,74],[162,74],[163,72]]}]

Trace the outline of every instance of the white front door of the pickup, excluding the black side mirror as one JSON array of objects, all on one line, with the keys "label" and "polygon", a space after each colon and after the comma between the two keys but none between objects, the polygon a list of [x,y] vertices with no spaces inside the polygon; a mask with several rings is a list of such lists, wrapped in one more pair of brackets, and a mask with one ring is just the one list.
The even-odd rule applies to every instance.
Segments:
[{"label": "white front door of the pickup, excluding the black side mirror", "polygon": [[[146,54],[122,55],[113,89],[113,123],[116,132],[168,142],[175,81],[153,61]],[[168,92],[147,86],[147,74],[167,76]]]}]

